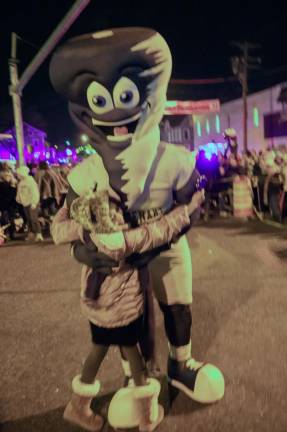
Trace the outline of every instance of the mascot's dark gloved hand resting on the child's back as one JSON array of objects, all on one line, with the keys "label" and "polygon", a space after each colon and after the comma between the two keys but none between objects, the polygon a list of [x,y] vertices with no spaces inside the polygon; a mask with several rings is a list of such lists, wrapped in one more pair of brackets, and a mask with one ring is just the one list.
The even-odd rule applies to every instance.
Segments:
[{"label": "mascot's dark gloved hand resting on the child's back", "polygon": [[73,255],[78,262],[86,264],[100,273],[111,274],[112,268],[117,267],[119,264],[108,255],[99,252],[96,246],[92,248],[90,244],[87,246],[80,240],[73,242],[72,247]]}]

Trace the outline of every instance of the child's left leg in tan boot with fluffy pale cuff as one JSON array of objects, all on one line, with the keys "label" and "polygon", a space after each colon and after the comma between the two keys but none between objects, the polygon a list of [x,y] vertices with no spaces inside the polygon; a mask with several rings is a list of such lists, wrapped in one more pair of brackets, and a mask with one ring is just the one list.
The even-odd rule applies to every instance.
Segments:
[{"label": "child's left leg in tan boot with fluffy pale cuff", "polygon": [[93,345],[84,363],[82,375],[75,376],[72,381],[73,394],[63,415],[65,420],[88,431],[99,431],[104,423],[101,416],[93,413],[90,405],[100,390],[100,382],[95,377],[108,348],[106,345]]}]

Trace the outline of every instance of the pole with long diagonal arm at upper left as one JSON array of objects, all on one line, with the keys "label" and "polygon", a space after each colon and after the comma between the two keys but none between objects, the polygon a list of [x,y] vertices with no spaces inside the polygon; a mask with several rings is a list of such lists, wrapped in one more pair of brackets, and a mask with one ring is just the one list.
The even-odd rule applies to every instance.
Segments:
[{"label": "pole with long diagonal arm at upper left", "polygon": [[21,108],[21,96],[22,90],[28,81],[32,78],[33,74],[36,70],[41,66],[41,64],[45,61],[47,56],[59,42],[59,40],[64,36],[64,34],[71,27],[73,22],[78,18],[81,12],[86,8],[86,6],[90,3],[91,0],[77,0],[74,5],[71,7],[66,16],[62,19],[62,21],[58,24],[56,29],[44,43],[36,57],[32,60],[32,62],[28,65],[26,70],[24,71],[22,77],[18,78],[18,69],[17,64],[18,60],[16,57],[17,51],[17,35],[16,33],[12,33],[12,47],[11,47],[11,58],[9,59],[9,70],[10,70],[10,81],[11,85],[9,86],[9,94],[12,97],[13,101],[13,110],[14,110],[14,122],[16,129],[16,137],[17,137],[17,150],[19,156],[19,165],[25,165],[24,160],[24,133],[23,133],[23,118],[22,118],[22,108]]}]

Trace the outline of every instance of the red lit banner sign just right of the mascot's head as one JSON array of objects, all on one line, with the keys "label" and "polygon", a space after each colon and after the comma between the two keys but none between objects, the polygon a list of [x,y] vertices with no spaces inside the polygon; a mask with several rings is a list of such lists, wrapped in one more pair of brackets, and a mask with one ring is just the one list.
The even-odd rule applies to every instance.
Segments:
[{"label": "red lit banner sign just right of the mascot's head", "polygon": [[165,115],[205,114],[220,111],[219,99],[202,101],[167,101]]}]

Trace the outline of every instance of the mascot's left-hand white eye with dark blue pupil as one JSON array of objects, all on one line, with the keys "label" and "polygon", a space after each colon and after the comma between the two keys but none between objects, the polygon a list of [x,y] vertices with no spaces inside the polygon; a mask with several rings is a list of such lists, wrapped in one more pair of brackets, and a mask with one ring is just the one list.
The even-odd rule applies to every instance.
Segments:
[{"label": "mascot's left-hand white eye with dark blue pupil", "polygon": [[96,81],[89,85],[87,99],[91,110],[96,114],[104,114],[114,109],[112,96],[102,84]]}]

